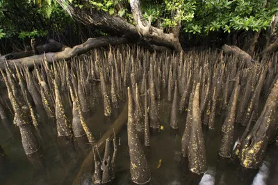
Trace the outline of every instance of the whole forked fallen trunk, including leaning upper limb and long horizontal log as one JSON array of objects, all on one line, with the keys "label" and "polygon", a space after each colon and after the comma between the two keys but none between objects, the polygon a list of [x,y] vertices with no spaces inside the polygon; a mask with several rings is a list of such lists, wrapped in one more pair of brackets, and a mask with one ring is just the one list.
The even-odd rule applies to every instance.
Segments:
[{"label": "whole forked fallen trunk, including leaning upper limb and long horizontal log", "polygon": [[[144,17],[142,17],[139,1],[131,1],[131,9],[137,29],[136,26],[126,22],[126,20],[122,19],[121,17],[114,17],[105,11],[97,10],[97,8],[94,7],[90,8],[90,5],[88,5],[86,2],[83,2],[84,6],[81,9],[72,6],[72,3],[69,1],[56,1],[60,4],[60,6],[65,8],[67,13],[76,19],[76,21],[86,25],[94,26],[96,29],[100,29],[104,33],[111,34],[111,36],[89,38],[82,45],[76,45],[73,48],[67,48],[58,42],[52,41],[46,45],[36,47],[36,50],[40,55],[31,56],[33,51],[28,51],[23,53],[24,56],[28,56],[25,58],[22,58],[22,54],[20,54],[20,56],[15,56],[15,54],[12,56],[6,56],[9,57],[8,59],[14,59],[9,60],[9,62],[14,62],[16,65],[27,65],[28,67],[33,67],[33,63],[40,64],[40,62],[44,59],[42,52],[51,52],[45,54],[45,57],[48,63],[52,63],[53,61],[58,61],[61,59],[70,59],[96,47],[102,47],[106,45],[120,45],[127,42],[144,45],[152,50],[165,50],[169,48],[178,52],[182,50],[178,38],[180,24],[178,24],[176,28],[172,29],[173,33],[163,33],[163,30],[157,29],[150,25],[150,19],[149,23],[145,21]],[[177,11],[177,13],[179,13],[179,11]],[[54,53],[56,51],[60,52]],[[0,69],[2,70],[5,70],[5,65],[3,63],[4,60],[5,58],[0,58]]]}]

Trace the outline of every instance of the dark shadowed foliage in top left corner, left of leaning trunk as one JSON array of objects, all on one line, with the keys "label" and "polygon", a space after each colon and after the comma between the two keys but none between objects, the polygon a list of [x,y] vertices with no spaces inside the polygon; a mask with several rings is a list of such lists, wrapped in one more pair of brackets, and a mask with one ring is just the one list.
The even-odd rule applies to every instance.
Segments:
[{"label": "dark shadowed foliage in top left corner, left of leaning trunk", "polygon": [[0,22],[0,38],[25,39],[59,33],[72,19],[56,1],[0,0]]}]

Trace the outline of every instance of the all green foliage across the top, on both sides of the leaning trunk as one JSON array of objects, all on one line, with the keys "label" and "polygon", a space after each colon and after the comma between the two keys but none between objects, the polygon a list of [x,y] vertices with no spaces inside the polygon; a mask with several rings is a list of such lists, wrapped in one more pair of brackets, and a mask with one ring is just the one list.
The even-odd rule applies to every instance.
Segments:
[{"label": "all green foliage across the top, on both sides of the leaning trunk", "polygon": [[[63,2],[81,9],[90,6],[133,24],[129,0]],[[277,0],[140,0],[140,4],[145,19],[152,17],[152,24],[165,31],[181,22],[181,32],[186,38],[204,37],[216,31],[265,30],[272,16],[278,13]],[[81,34],[81,26],[73,22],[57,0],[0,0],[0,22],[0,40],[53,37],[68,31]]]}]

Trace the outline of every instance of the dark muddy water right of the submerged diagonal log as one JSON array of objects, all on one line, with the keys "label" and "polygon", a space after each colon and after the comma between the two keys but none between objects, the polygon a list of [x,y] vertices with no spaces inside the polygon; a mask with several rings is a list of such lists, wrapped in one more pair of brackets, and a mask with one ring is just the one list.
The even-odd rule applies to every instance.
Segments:
[{"label": "dark muddy water right of the submerged diagonal log", "polygon": [[[278,145],[272,144],[268,147],[268,154],[259,170],[244,169],[241,168],[238,161],[220,158],[218,152],[225,111],[217,116],[215,130],[209,130],[208,126],[203,124],[208,170],[204,175],[195,175],[190,172],[186,159],[183,159],[180,153],[181,136],[186,124],[186,112],[179,114],[178,131],[172,131],[169,124],[171,106],[172,102],[167,102],[167,98],[161,101],[159,112],[163,130],[158,135],[151,137],[150,149],[144,148],[152,170],[151,185],[277,184]],[[245,127],[240,124],[235,125],[235,142],[244,129]],[[127,185],[131,184],[131,177],[129,175],[129,147],[127,146],[126,128],[120,133],[120,137],[122,138],[122,145],[117,158],[117,174],[113,184]],[[161,164],[159,164],[160,161]]]}]

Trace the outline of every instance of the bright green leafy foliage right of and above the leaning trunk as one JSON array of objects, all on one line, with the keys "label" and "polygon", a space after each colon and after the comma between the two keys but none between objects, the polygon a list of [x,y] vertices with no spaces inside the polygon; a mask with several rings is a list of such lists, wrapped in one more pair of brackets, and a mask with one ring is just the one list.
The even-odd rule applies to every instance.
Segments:
[{"label": "bright green leafy foliage right of and above the leaning trunk", "polygon": [[[202,35],[210,31],[267,29],[278,12],[276,0],[141,0],[140,3],[145,19],[152,17],[152,24],[165,29],[181,21],[182,31]],[[123,6],[116,11],[118,4]],[[132,22],[128,1],[90,0],[90,5]]]}]

